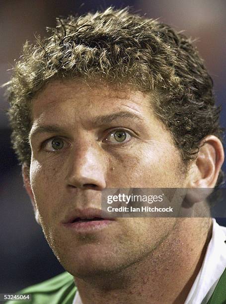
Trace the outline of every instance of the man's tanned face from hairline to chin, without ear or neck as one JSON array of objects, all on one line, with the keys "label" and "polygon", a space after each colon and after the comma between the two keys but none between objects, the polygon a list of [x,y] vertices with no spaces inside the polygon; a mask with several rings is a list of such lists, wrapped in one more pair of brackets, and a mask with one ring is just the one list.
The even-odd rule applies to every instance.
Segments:
[{"label": "man's tanned face from hairline to chin, without ear or neck", "polygon": [[184,186],[179,152],[151,110],[154,101],[74,80],[55,80],[33,100],[31,189],[47,241],[74,276],[126,268],[175,225],[166,218],[117,218],[89,231],[64,225],[75,210],[100,209],[105,188]]}]

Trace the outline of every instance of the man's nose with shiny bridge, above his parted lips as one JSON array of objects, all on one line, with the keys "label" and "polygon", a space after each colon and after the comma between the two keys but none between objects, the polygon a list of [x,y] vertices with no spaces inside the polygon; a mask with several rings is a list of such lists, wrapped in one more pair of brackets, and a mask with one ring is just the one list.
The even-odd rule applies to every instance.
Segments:
[{"label": "man's nose with shiny bridge, above his parted lips", "polygon": [[67,184],[74,188],[103,190],[106,159],[98,144],[82,144],[72,152],[68,163]]}]

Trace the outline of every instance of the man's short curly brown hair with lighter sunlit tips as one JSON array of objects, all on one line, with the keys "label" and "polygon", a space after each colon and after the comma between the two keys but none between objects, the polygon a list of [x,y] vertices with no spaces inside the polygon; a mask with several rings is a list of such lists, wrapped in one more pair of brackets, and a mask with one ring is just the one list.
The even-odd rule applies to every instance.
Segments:
[{"label": "man's short curly brown hair with lighter sunlit tips", "polygon": [[[112,7],[103,12],[57,18],[55,28],[35,44],[25,43],[8,82],[12,144],[28,166],[32,98],[55,78],[98,79],[157,92],[152,105],[172,135],[184,164],[194,159],[201,141],[222,141],[220,107],[213,81],[193,41],[157,20]],[[221,171],[217,186],[224,180]]]}]

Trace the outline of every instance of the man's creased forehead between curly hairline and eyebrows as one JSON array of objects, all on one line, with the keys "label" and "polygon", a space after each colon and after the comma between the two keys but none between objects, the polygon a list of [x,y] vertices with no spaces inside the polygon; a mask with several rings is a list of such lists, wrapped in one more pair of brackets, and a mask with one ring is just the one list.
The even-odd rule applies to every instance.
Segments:
[{"label": "man's creased forehead between curly hairline and eyebrows", "polygon": [[70,115],[97,115],[128,110],[142,116],[150,114],[151,97],[128,87],[87,84],[78,80],[54,80],[32,102],[32,118],[68,112]]}]

